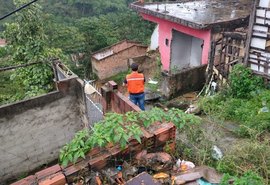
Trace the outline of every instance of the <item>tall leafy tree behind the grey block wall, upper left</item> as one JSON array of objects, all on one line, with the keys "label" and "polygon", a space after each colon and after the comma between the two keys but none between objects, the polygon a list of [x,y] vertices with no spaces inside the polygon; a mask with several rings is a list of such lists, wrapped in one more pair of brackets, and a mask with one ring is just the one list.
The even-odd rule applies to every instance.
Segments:
[{"label": "tall leafy tree behind the grey block wall, upper left", "polygon": [[[27,2],[27,0],[14,0],[16,7]],[[47,46],[42,16],[41,6],[34,3],[17,12],[15,20],[6,24],[4,32],[9,43],[10,55],[15,63],[42,62],[19,68],[11,76],[11,80],[23,84],[25,97],[40,95],[53,89],[53,72],[48,60],[61,54],[61,50]]]}]

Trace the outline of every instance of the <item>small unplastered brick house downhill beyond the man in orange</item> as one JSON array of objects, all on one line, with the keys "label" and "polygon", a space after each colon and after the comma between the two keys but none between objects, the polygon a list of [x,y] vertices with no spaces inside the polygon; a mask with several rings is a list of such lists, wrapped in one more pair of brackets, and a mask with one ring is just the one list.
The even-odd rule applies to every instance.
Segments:
[{"label": "small unplastered brick house downhill beyond the man in orange", "polygon": [[128,70],[128,59],[146,54],[147,46],[134,41],[121,41],[93,53],[92,70],[104,80]]}]

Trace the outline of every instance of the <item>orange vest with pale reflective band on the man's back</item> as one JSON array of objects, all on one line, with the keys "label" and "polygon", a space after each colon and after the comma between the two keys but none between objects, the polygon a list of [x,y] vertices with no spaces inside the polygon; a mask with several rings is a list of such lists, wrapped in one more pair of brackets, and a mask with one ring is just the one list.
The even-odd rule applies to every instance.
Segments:
[{"label": "orange vest with pale reflective band on the man's back", "polygon": [[144,92],[144,75],[133,71],[126,76],[128,92],[131,94],[139,94]]}]

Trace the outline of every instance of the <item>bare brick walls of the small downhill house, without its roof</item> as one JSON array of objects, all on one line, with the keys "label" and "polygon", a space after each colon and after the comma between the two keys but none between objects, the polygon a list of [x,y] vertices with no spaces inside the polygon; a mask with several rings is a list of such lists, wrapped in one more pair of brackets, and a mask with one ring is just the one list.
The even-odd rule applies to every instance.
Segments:
[{"label": "bare brick walls of the small downhill house, without its roof", "polygon": [[104,80],[120,72],[127,71],[128,59],[141,56],[145,53],[146,47],[134,45],[103,60],[98,61],[92,58],[93,71],[97,74],[99,79]]}]

